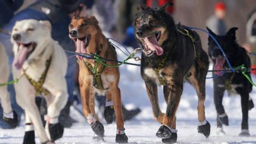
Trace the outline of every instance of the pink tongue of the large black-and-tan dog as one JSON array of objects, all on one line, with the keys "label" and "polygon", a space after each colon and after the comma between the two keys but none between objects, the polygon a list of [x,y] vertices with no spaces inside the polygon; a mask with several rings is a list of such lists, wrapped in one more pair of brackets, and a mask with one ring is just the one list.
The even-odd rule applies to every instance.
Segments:
[{"label": "pink tongue of the large black-and-tan dog", "polygon": [[150,50],[156,51],[157,55],[162,55],[164,53],[163,48],[158,45],[155,35],[146,37],[144,41]]}]

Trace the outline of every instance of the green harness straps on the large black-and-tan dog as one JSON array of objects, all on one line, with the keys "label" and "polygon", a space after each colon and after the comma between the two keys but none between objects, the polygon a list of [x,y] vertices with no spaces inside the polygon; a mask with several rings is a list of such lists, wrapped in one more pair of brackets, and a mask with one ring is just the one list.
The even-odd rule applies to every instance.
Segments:
[{"label": "green harness straps on the large black-and-tan dog", "polygon": [[[183,31],[184,32],[183,32]],[[182,29],[182,30],[179,30],[177,28],[177,31],[185,36],[188,36],[190,38],[190,40],[192,41],[193,43],[193,47],[194,47],[194,59],[196,59],[196,47],[195,47],[195,39],[193,38],[193,36],[191,36],[188,32],[187,29]],[[162,77],[160,74],[159,74],[159,71],[164,67],[164,64],[166,62],[166,59],[168,57],[168,53],[166,53],[164,55],[164,58],[158,63],[158,67],[157,68],[153,68],[157,74],[157,77],[158,77],[158,81],[161,85],[166,85],[166,79],[164,77]]]}]

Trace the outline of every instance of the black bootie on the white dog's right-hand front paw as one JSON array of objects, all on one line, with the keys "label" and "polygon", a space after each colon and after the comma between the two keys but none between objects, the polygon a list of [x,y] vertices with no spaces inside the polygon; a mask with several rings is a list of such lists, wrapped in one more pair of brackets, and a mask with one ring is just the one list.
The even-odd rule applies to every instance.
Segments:
[{"label": "black bootie on the white dog's right-hand front paw", "polygon": [[51,136],[51,141],[55,141],[62,137],[63,132],[64,132],[64,127],[60,123],[57,123],[57,124],[49,123],[49,132],[50,132],[50,136]]}]

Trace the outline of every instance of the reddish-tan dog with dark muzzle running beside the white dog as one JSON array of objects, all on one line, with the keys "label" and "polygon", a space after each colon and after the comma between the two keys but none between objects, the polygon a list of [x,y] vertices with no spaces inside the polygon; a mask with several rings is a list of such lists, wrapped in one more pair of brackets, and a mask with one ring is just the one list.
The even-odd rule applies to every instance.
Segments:
[{"label": "reddish-tan dog with dark muzzle running beside the white dog", "polygon": [[[78,53],[97,53],[102,58],[117,60],[115,48],[102,34],[95,17],[73,18],[69,25],[69,36],[76,44]],[[83,112],[92,130],[98,137],[103,138],[104,127],[99,122],[94,110],[95,92],[107,93],[107,100],[114,103],[117,134],[116,142],[126,143],[128,138],[124,132],[124,119],[121,109],[121,92],[118,88],[119,69],[118,67],[105,67],[102,63],[77,56],[79,63],[79,85]],[[107,62],[107,65],[117,63]]]}]

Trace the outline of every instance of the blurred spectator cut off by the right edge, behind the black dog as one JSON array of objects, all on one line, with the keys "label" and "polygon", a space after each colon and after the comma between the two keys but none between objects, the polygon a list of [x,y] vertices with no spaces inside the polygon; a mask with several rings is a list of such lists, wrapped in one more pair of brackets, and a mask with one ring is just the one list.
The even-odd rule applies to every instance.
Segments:
[{"label": "blurred spectator cut off by the right edge, behind the black dog", "polygon": [[[256,52],[256,10],[253,10],[250,14],[249,20],[246,25],[246,37],[249,45],[251,47],[251,52]],[[251,57],[252,68],[256,68],[256,57],[252,55]],[[256,70],[253,70],[252,73],[256,75]]]}]

